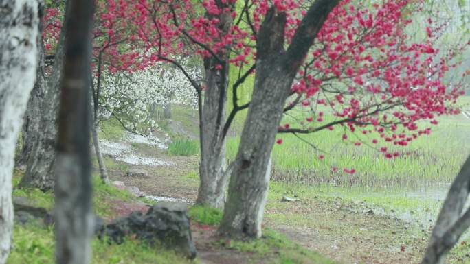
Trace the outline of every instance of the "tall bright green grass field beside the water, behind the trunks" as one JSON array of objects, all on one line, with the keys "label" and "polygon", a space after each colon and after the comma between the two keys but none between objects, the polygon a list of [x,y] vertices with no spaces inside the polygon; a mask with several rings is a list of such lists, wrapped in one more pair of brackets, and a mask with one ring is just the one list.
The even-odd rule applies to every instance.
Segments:
[{"label": "tall bright green grass field beside the water, behind the trunks", "polygon": [[[441,117],[440,124],[434,127],[429,136],[421,136],[408,147],[390,147],[401,152],[412,152],[410,156],[388,159],[370,145],[373,136],[359,137],[369,145],[355,146],[342,141],[343,130],[325,130],[307,134],[302,138],[313,143],[301,141],[291,134],[280,134],[281,145],[273,147],[273,171],[271,179],[303,184],[335,184],[344,187],[418,187],[423,184],[451,182],[469,149],[467,131],[470,121],[456,117]],[[349,139],[357,141],[355,134],[346,132]],[[238,151],[239,138],[227,142],[227,156],[233,160]],[[378,144],[381,147],[383,144]],[[321,160],[319,155],[324,155]],[[449,158],[451,157],[451,158]],[[338,167],[333,171],[332,167]],[[343,168],[354,168],[357,173],[344,173]]]}]

